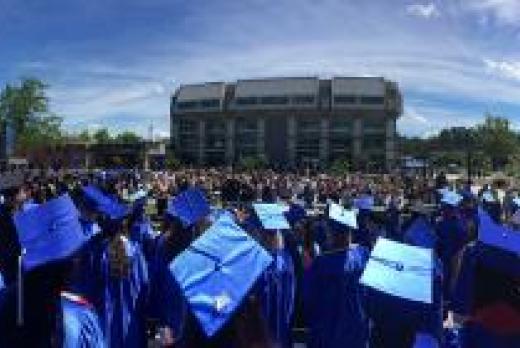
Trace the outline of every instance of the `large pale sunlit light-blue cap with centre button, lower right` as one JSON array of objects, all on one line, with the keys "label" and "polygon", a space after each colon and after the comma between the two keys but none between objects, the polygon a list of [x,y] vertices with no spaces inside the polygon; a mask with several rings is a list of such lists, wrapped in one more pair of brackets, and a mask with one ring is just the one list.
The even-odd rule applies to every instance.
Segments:
[{"label": "large pale sunlit light-blue cap with centre button, lower right", "polygon": [[360,283],[379,295],[431,305],[432,250],[379,238]]}]

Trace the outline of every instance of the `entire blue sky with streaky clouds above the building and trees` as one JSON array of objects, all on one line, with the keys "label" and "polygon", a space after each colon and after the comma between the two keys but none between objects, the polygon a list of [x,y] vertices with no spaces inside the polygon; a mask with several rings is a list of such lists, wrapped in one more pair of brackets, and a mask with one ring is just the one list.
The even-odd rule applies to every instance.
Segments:
[{"label": "entire blue sky with streaky clouds above the building and trees", "polygon": [[169,129],[180,83],[377,75],[406,135],[520,129],[519,0],[0,0],[0,84],[49,83],[70,131]]}]

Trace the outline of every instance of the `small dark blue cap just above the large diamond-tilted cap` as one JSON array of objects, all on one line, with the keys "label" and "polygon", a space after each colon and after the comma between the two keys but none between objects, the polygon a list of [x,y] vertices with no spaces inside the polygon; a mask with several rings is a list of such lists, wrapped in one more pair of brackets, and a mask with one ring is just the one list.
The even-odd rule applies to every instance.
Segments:
[{"label": "small dark blue cap just above the large diamond-tilted cap", "polygon": [[190,227],[210,213],[209,203],[198,188],[188,188],[168,202],[167,213]]}]

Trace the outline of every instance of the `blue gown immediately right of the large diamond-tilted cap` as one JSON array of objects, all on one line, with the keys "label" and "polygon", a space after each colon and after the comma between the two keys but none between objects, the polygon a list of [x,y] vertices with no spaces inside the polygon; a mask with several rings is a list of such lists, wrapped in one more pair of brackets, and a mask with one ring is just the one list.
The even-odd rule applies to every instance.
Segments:
[{"label": "blue gown immediately right of the large diamond-tilted cap", "polygon": [[258,281],[264,318],[271,337],[281,347],[292,347],[292,315],[294,311],[295,275],[292,258],[287,250],[272,253],[273,263]]}]

